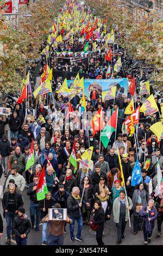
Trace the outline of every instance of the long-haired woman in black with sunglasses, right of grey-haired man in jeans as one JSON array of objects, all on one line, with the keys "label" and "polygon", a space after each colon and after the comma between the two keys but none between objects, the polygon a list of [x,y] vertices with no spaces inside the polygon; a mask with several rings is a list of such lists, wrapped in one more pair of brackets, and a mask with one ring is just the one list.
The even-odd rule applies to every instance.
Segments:
[{"label": "long-haired woman in black with sunglasses, right of grey-haired man in jeans", "polygon": [[83,213],[83,224],[89,225],[91,209],[93,205],[93,185],[89,177],[84,177],[81,183],[80,197],[82,198],[83,190],[83,200],[82,200],[82,213]]}]

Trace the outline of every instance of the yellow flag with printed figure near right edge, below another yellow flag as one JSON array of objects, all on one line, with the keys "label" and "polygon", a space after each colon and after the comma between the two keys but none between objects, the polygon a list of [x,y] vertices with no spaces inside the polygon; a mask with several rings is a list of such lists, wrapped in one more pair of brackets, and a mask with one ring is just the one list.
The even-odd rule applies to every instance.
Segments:
[{"label": "yellow flag with printed figure near right edge, below another yellow flag", "polygon": [[143,112],[145,115],[151,115],[158,112],[158,106],[156,105],[153,94],[148,97],[147,100],[143,103],[140,108],[140,112]]}]

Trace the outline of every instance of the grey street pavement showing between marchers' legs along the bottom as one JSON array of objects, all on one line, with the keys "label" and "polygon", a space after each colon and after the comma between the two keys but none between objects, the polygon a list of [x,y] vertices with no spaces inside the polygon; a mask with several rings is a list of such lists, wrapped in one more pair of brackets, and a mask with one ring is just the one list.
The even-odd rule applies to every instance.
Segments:
[{"label": "grey street pavement showing between marchers' legs along the bottom", "polygon": [[[4,174],[3,174],[4,175]],[[29,214],[29,196],[27,196],[27,188],[23,191],[23,201],[24,201],[24,208],[26,209],[26,214],[30,218]],[[3,214],[3,208],[2,208],[2,199],[0,199],[0,212],[1,215]],[[2,215],[3,216],[3,215]],[[131,227],[129,228],[129,222],[127,222],[126,230],[124,232],[125,238],[122,240],[122,243],[120,245],[143,245],[143,231],[139,231],[136,235],[133,234],[133,215],[130,218],[131,220]],[[1,245],[5,245],[5,242],[7,241],[7,232],[6,232],[6,222],[3,218],[3,225],[4,225],[4,232],[3,236],[1,238]],[[32,229],[28,235],[28,245],[41,245],[41,234],[42,234],[42,225],[40,225],[40,231],[35,231],[35,229]],[[74,227],[74,235],[77,234],[77,223]],[[152,241],[150,245],[163,245],[163,232],[162,236],[157,236],[157,228],[156,228],[156,221],[155,221],[155,227],[152,234]],[[74,243],[70,242],[70,230],[69,230],[69,224],[66,225],[66,234],[65,234],[65,240],[64,245],[97,245],[96,242],[96,235],[95,231],[91,230],[89,226],[84,225],[82,230],[82,237],[84,239],[84,242],[79,242],[75,240]],[[105,222],[105,228],[104,228],[104,235],[103,235],[103,241],[105,245],[117,245],[117,228],[116,224],[113,221],[113,216],[111,215],[111,220]],[[15,240],[11,240],[11,245],[16,245]],[[119,245],[119,246],[120,246]]]}]

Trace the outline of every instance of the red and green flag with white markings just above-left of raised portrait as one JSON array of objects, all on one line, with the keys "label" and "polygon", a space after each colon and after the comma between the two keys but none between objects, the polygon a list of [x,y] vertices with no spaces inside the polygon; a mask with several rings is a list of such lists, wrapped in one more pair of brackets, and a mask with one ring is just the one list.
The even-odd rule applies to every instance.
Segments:
[{"label": "red and green flag with white markings just above-left of raised portrait", "polygon": [[45,195],[48,193],[47,185],[46,185],[46,176],[45,176],[45,166],[43,166],[39,183],[37,184],[37,201],[43,200]]}]

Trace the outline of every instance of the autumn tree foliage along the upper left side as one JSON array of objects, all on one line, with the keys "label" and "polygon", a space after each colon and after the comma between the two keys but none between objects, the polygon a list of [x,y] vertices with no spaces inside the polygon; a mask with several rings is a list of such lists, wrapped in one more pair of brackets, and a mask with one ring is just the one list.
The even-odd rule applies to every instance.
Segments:
[{"label": "autumn tree foliage along the upper left side", "polygon": [[[0,0],[1,6],[3,2]],[[39,57],[42,41],[64,3],[64,0],[36,1],[27,8],[32,17],[20,18],[19,27],[11,27],[4,16],[0,17],[0,90],[5,93],[19,90],[26,60]]]}]

